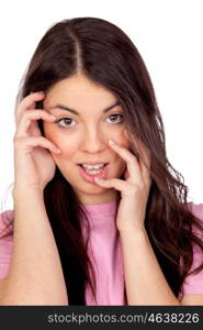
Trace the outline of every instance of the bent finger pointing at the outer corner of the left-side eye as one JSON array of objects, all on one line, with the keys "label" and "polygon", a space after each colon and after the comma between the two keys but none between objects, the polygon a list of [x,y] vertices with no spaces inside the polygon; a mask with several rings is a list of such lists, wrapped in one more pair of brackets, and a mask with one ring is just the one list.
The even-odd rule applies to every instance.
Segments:
[{"label": "bent finger pointing at the outer corner of the left-side eye", "polygon": [[26,111],[23,113],[20,122],[19,122],[19,125],[18,125],[18,129],[16,129],[16,133],[15,133],[15,136],[27,136],[29,133],[27,133],[27,129],[31,124],[31,122],[33,120],[40,120],[40,119],[43,119],[43,120],[46,120],[46,121],[49,121],[49,122],[54,122],[56,120],[56,118],[49,113],[47,113],[46,111],[44,110],[30,110],[30,111]]}]

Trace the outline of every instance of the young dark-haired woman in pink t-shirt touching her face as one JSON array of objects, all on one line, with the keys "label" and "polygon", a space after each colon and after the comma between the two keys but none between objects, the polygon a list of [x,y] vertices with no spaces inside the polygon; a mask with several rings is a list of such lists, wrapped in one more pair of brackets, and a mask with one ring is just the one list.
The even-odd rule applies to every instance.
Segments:
[{"label": "young dark-haired woman in pink t-shirt touching her face", "polygon": [[0,305],[203,305],[203,205],[167,158],[149,74],[121,29],[53,25],[15,119]]}]

